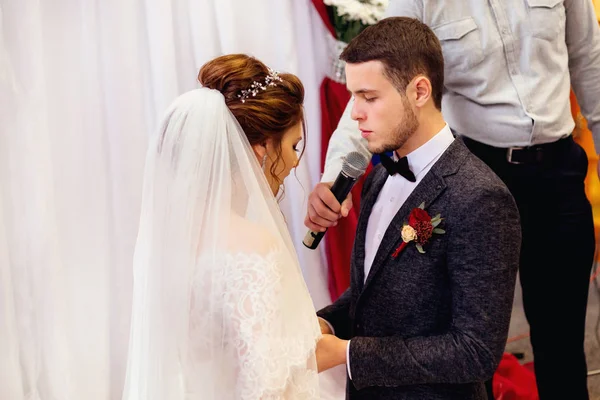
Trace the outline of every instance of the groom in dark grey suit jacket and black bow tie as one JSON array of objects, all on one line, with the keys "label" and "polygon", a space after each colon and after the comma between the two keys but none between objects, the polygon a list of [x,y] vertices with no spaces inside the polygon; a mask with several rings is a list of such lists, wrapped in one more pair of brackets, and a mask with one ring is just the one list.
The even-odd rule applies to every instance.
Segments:
[{"label": "groom in dark grey suit jacket and black bow tie", "polygon": [[341,58],[369,150],[394,153],[363,187],[350,288],[318,313],[319,369],[345,364],[351,400],[486,399],[519,261],[514,200],[445,123],[426,25],[382,20]]}]

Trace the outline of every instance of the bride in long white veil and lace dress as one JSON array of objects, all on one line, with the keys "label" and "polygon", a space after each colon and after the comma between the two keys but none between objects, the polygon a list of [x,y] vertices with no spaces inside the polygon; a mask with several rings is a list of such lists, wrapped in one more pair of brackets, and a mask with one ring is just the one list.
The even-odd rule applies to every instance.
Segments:
[{"label": "bride in long white veil and lace dress", "polygon": [[148,150],[123,399],[317,399],[321,331],[275,197],[303,86],[246,55],[198,78]]}]

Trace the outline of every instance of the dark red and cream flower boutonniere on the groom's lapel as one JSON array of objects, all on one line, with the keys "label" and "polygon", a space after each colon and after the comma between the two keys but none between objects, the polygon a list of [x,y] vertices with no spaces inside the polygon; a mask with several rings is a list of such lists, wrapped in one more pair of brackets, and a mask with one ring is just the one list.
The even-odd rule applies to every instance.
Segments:
[{"label": "dark red and cream flower boutonniere on the groom's lapel", "polygon": [[437,227],[442,220],[441,214],[431,218],[429,213],[425,211],[425,203],[422,203],[417,208],[413,208],[408,215],[408,223],[404,223],[402,226],[402,243],[400,243],[400,246],[394,251],[392,258],[398,257],[398,254],[400,254],[410,242],[415,242],[415,247],[419,253],[425,253],[423,246],[429,242],[429,239],[431,239],[434,233],[438,235],[446,233],[446,231]]}]

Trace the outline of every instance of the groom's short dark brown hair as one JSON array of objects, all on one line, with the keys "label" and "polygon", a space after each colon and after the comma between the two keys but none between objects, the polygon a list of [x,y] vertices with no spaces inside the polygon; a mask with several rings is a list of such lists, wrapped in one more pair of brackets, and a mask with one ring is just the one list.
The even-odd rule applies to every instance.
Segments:
[{"label": "groom's short dark brown hair", "polygon": [[431,82],[435,106],[442,109],[442,47],[421,21],[407,17],[383,19],[352,39],[340,58],[350,64],[381,61],[385,75],[401,94],[415,76],[423,74]]}]

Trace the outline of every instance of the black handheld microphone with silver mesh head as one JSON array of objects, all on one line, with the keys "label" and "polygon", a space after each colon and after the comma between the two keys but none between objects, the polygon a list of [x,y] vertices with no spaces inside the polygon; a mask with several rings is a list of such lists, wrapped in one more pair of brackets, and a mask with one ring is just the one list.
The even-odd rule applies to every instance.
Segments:
[{"label": "black handheld microphone with silver mesh head", "polygon": [[[350,193],[358,178],[365,173],[368,166],[369,160],[359,152],[353,151],[346,155],[342,164],[342,171],[335,179],[333,186],[331,186],[331,193],[333,193],[340,204],[346,200],[348,193]],[[321,239],[323,239],[323,236],[325,236],[325,232],[313,232],[309,230],[306,236],[304,236],[302,244],[314,250],[321,242]]]}]

